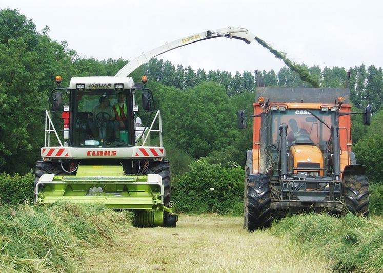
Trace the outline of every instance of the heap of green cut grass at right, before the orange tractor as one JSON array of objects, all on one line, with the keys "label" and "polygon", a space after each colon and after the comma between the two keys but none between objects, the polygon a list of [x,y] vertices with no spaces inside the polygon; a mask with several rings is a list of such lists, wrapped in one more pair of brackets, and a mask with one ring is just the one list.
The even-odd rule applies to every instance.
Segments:
[{"label": "heap of green cut grass at right, before the orange tractor", "polygon": [[348,214],[297,215],[273,225],[305,253],[327,260],[333,271],[383,272],[383,221]]}]

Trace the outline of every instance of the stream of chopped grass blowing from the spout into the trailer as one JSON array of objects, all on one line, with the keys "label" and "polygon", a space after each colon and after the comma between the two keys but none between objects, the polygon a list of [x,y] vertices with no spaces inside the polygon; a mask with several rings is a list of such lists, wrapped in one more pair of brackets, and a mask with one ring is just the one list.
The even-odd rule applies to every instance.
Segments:
[{"label": "stream of chopped grass blowing from the spout into the trailer", "polygon": [[285,64],[294,72],[298,73],[301,80],[309,82],[313,87],[319,87],[319,81],[313,75],[310,74],[309,70],[302,65],[295,64],[288,58],[286,58],[286,54],[283,52],[279,52],[278,50],[273,49],[269,44],[267,44],[264,40],[255,37],[255,40],[261,44],[264,48],[267,48],[271,53],[275,55],[276,58],[279,58],[285,62]]}]

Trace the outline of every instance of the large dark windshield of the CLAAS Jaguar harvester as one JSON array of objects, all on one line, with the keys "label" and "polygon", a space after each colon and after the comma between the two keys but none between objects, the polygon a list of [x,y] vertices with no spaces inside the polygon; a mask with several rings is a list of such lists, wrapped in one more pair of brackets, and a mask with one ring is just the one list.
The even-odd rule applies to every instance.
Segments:
[{"label": "large dark windshield of the CLAAS Jaguar harvester", "polygon": [[125,92],[95,90],[77,92],[74,103],[74,146],[127,146],[129,103]]}]

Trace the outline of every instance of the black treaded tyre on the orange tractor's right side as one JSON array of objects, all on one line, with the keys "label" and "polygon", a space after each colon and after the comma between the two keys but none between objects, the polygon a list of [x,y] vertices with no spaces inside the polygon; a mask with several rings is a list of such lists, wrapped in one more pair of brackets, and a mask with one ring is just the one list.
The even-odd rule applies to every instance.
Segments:
[{"label": "black treaded tyre on the orange tractor's right side", "polygon": [[365,175],[350,175],[343,179],[344,195],[347,209],[357,216],[368,216],[369,187]]}]

